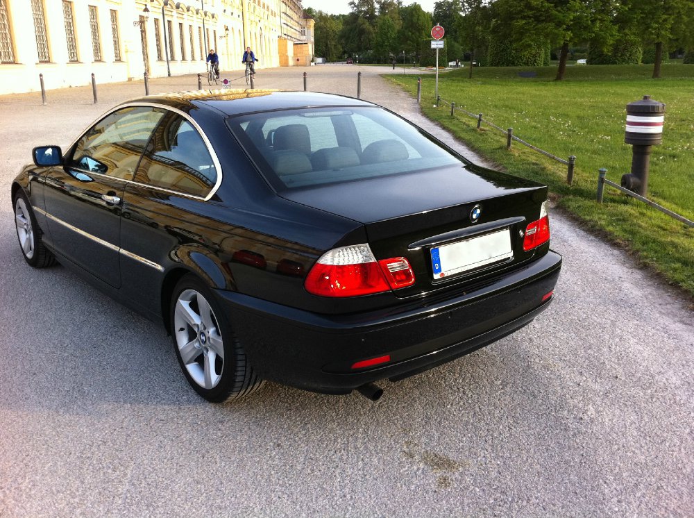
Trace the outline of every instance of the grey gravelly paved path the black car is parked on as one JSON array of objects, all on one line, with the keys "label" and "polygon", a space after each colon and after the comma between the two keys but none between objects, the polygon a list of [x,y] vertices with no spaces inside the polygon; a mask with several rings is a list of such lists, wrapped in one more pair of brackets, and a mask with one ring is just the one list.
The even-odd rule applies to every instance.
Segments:
[{"label": "grey gravelly paved path the black car is parked on", "polygon": [[[358,69],[362,97],[439,132],[384,69],[312,67],[310,88],[355,94]],[[301,89],[303,70],[258,83]],[[692,313],[557,214],[556,300],[521,332],[375,404],[273,384],[230,406],[195,396],[162,328],[25,264],[10,210],[31,147],[143,90],[0,97],[0,517],[694,514]]]}]

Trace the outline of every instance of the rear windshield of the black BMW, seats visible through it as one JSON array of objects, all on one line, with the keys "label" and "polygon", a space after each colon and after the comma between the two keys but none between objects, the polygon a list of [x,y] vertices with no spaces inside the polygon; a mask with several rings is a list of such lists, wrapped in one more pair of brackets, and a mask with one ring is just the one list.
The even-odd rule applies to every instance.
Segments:
[{"label": "rear windshield of the black BMW, seats visible through it", "polygon": [[378,107],[254,113],[229,117],[227,124],[278,190],[461,163],[417,128]]}]

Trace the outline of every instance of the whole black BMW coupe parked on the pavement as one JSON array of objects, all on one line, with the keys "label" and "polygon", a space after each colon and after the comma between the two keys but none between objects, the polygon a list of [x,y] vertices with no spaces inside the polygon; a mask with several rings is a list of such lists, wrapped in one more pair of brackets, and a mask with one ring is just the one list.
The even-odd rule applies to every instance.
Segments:
[{"label": "whole black BMW coupe parked on the pavement", "polygon": [[122,103],[12,182],[26,262],[163,321],[210,401],[378,399],[525,326],[561,268],[546,199],[380,106],[269,90]]}]

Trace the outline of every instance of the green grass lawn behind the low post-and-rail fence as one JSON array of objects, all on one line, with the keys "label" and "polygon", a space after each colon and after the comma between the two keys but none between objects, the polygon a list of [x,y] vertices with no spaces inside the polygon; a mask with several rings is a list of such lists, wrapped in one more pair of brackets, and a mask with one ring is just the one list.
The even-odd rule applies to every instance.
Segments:
[{"label": "green grass lawn behind the low post-and-rail fence", "polygon": [[[694,220],[694,65],[664,64],[662,78],[651,79],[652,65],[567,67],[564,81],[553,81],[556,67],[480,67],[439,74],[445,101],[564,158],[577,156],[573,186],[566,166],[514,142],[476,119],[441,103],[434,108],[434,77],[422,76],[422,110],[470,147],[509,172],[550,185],[557,204],[589,228],[623,244],[641,262],[694,298],[694,229],[607,187],[605,203],[595,203],[598,169],[619,183],[631,168],[632,147],[624,143],[625,106],[648,94],[666,103],[663,144],[653,147],[648,197]],[[518,72],[535,72],[523,78]],[[416,94],[416,77],[393,74],[391,81]]]}]

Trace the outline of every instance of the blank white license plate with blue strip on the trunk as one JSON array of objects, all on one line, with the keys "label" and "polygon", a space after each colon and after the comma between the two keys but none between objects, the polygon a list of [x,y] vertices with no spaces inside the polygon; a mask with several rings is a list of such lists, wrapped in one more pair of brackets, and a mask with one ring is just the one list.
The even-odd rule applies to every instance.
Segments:
[{"label": "blank white license plate with blue strip on the trunk", "polygon": [[434,278],[459,274],[514,256],[508,228],[431,249]]}]

